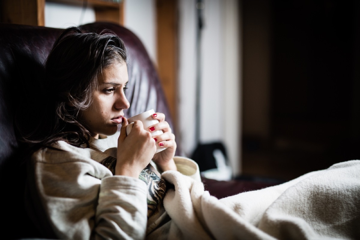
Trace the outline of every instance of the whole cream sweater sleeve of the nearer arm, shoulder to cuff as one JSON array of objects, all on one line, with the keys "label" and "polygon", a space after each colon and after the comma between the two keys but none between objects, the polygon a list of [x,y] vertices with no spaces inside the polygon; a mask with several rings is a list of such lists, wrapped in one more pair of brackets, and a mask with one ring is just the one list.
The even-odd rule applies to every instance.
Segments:
[{"label": "whole cream sweater sleeve of the nearer arm, shoulder to cuff", "polygon": [[144,239],[146,184],[113,176],[86,149],[77,151],[35,154],[30,184],[40,209],[33,212],[45,213],[59,239]]}]

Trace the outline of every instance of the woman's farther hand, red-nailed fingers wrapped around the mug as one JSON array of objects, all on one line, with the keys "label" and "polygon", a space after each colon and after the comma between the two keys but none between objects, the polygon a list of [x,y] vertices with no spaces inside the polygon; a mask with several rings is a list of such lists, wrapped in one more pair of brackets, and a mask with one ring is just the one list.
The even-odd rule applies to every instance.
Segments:
[{"label": "woman's farther hand, red-nailed fingers wrapped around the mug", "polygon": [[165,150],[156,153],[153,157],[153,161],[161,172],[176,170],[177,168],[173,159],[176,151],[175,135],[172,133],[168,122],[165,121],[165,114],[154,113],[152,117],[159,120],[159,123],[150,126],[149,131],[154,132],[162,130],[164,133],[153,136],[153,139],[160,148],[166,148]]}]

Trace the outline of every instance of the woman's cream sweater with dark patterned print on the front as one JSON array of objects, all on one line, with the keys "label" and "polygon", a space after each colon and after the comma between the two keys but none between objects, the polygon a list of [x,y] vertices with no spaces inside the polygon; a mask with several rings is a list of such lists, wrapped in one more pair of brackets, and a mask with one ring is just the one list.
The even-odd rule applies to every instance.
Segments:
[{"label": "woman's cream sweater with dark patterned print on the front", "polygon": [[[166,237],[170,218],[162,199],[168,184],[150,164],[139,178],[113,175],[116,142],[114,136],[93,139],[92,148],[77,148],[59,141],[33,154],[28,210],[45,237]],[[200,181],[194,161],[174,160],[181,173]]]}]

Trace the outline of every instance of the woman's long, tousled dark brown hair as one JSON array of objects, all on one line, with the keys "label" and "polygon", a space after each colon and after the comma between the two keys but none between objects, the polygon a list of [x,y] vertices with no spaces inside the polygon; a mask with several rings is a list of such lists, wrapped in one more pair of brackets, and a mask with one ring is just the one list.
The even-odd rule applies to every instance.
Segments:
[{"label": "woman's long, tousled dark brown hair", "polygon": [[44,114],[23,139],[41,146],[63,140],[89,147],[90,132],[78,119],[79,111],[92,103],[102,70],[126,59],[124,43],[115,34],[87,33],[78,27],[64,30],[45,62]]}]

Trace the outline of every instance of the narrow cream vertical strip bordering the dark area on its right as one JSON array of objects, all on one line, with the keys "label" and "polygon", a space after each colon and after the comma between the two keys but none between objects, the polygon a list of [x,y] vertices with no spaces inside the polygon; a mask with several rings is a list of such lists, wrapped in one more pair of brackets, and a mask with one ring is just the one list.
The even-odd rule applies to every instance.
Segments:
[{"label": "narrow cream vertical strip bordering the dark area on its right", "polygon": [[[241,2],[223,1],[222,36],[224,68],[224,142],[228,148],[233,174],[242,173],[242,15]],[[227,115],[228,114],[228,115]]]}]

